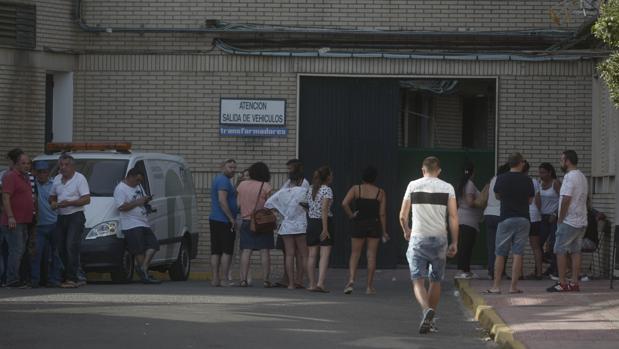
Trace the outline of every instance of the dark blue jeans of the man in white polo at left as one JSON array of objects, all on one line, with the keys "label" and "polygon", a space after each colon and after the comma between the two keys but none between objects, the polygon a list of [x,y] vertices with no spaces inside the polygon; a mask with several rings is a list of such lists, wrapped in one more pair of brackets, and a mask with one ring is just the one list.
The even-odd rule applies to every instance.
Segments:
[{"label": "dark blue jeans of the man in white polo at left", "polygon": [[80,280],[80,250],[85,222],[86,218],[83,211],[69,215],[58,215],[52,240],[58,242],[67,281],[77,282]]}]

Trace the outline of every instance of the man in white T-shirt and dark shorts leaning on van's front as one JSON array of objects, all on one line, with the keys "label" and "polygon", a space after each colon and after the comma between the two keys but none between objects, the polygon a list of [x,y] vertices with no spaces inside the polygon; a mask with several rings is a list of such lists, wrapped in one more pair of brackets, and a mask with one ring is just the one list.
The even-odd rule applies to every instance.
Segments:
[{"label": "man in white T-shirt and dark shorts leaning on van's front", "polygon": [[144,174],[137,168],[127,172],[127,176],[114,189],[114,202],[120,211],[120,229],[125,235],[127,250],[136,262],[136,271],[145,284],[159,284],[159,280],[148,275],[150,262],[159,251],[159,241],[148,223],[145,204],[152,199],[144,193],[140,185]]}]

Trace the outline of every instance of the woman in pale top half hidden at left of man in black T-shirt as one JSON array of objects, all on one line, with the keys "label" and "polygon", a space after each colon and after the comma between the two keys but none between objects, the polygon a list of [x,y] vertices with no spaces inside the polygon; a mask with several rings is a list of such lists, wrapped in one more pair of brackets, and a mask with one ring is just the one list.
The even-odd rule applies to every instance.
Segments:
[{"label": "woman in pale top half hidden at left of man in black T-shirt", "polygon": [[[484,210],[484,224],[486,226],[486,249],[488,251],[488,276],[490,279],[494,278],[494,249],[496,242],[496,230],[501,221],[501,201],[497,200],[494,195],[494,184],[496,183],[497,176],[509,171],[509,165],[503,164],[497,169],[496,176],[492,177],[487,188],[482,190],[486,200],[486,209]],[[488,194],[491,193],[491,194]]]}]

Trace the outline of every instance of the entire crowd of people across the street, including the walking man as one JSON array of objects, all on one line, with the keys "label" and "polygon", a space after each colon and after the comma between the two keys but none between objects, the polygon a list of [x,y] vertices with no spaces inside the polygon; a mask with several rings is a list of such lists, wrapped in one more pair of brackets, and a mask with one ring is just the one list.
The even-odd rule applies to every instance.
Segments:
[{"label": "entire crowd of people across the street, including the walking man", "polygon": [[[46,162],[35,163],[32,175],[32,163],[20,149],[11,150],[8,157],[10,169],[0,175],[0,246],[6,245],[0,258],[3,285],[81,286],[85,278],[80,268],[80,243],[84,207],[90,202],[86,179],[75,170],[75,161],[69,154],[60,156],[59,174],[53,179],[49,178]],[[286,165],[288,180],[277,191],[270,184],[271,173],[263,162],[242,171],[236,184],[232,179],[237,164],[232,159],[225,161],[221,173],[214,177],[209,215],[213,286],[231,284],[230,266],[238,234],[238,286],[251,285],[251,255],[259,251],[264,287],[329,292],[326,285],[329,258],[334,236],[340,233],[334,230],[333,222],[332,206],[336,198],[330,185],[334,174],[328,166],[323,166],[313,171],[308,181],[301,161],[292,159]],[[502,292],[501,282],[510,255],[508,292],[522,292],[518,280],[522,276],[527,243],[535,264],[529,278],[556,276],[557,282],[548,287],[549,292],[580,290],[583,237],[587,226],[592,225],[587,210],[587,180],[577,168],[578,156],[573,150],[561,154],[560,165],[565,173],[562,181],[547,162],[539,165],[537,180],[529,176],[530,164],[522,154],[514,153],[479,191],[472,180],[475,173],[472,163],[464,164],[461,179],[454,188],[439,179],[439,159],[428,157],[423,161],[422,177],[409,183],[400,208],[414,295],[423,310],[420,333],[436,328],[434,317],[447,257],[457,257],[460,269],[457,278],[477,277],[471,271],[471,259],[482,222],[488,242],[488,276],[492,280],[487,293]],[[377,176],[376,168],[365,168],[360,183],[351,186],[341,202],[351,222],[345,294],[354,291],[364,245],[368,264],[365,293],[376,293],[373,283],[378,246],[381,240],[390,238],[386,222],[387,193],[375,184]],[[130,169],[116,187],[114,199],[138,275],[142,282],[156,284],[159,280],[148,274],[148,268],[159,245],[146,218],[145,205],[151,198],[140,190],[143,179],[138,169]],[[267,216],[274,212],[278,216],[277,229],[258,229],[263,223],[258,221],[257,213],[264,209],[270,212]],[[30,250],[26,248],[29,242],[33,246]],[[270,253],[276,246],[283,250],[284,275],[278,282],[272,282]],[[550,262],[545,272],[544,260]],[[42,264],[48,270],[46,280],[41,280]],[[568,269],[571,279],[568,279]],[[429,279],[428,287],[426,279]]]}]

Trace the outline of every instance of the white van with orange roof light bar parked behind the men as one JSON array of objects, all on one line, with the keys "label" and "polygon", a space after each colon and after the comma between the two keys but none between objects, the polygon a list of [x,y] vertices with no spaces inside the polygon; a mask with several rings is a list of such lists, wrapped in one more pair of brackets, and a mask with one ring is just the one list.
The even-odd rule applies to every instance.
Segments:
[{"label": "white van with orange roof light bar parked behind the men", "polygon": [[[151,269],[167,271],[172,280],[187,280],[191,260],[197,256],[198,225],[196,195],[185,160],[175,155],[133,152],[128,143],[124,146],[104,144],[99,148],[72,143],[54,145],[48,145],[48,150],[70,150],[76,170],[86,177],[90,186],[90,204],[84,212],[82,268],[87,272],[110,272],[112,280],[117,282],[133,278],[133,257],[125,247],[120,230],[114,188],[129,169],[137,167],[144,173],[145,193],[153,196],[148,220],[160,244]],[[82,151],[80,148],[116,149]],[[50,162],[51,176],[54,176],[58,172],[59,156],[59,152],[40,155],[33,162]]]}]

